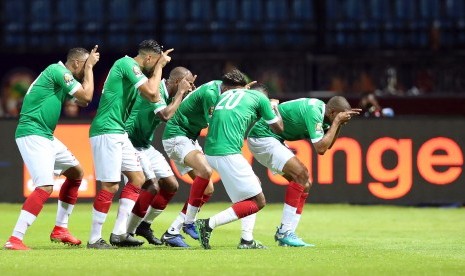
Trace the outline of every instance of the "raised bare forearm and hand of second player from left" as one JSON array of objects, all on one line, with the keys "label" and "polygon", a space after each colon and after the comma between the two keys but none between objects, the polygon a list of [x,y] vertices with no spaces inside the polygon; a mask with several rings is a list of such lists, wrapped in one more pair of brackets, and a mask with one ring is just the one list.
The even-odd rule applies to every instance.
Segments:
[{"label": "raised bare forearm and hand of second player from left", "polygon": [[139,86],[139,91],[141,95],[147,100],[156,103],[160,101],[160,82],[161,82],[161,73],[163,67],[171,61],[171,57],[168,56],[174,49],[169,49],[163,52],[155,64],[152,76]]}]

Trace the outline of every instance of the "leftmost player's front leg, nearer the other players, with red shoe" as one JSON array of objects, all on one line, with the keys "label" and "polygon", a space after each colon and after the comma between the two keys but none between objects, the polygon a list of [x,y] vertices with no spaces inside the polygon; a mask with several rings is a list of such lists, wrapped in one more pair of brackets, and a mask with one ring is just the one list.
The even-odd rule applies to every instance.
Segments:
[{"label": "leftmost player's front leg, nearer the other players, with red shoe", "polygon": [[84,171],[76,157],[56,137],[53,144],[55,148],[55,175],[64,175],[66,179],[60,188],[55,227],[50,234],[50,240],[69,245],[80,245],[81,241],[68,230],[68,220],[77,202]]}]

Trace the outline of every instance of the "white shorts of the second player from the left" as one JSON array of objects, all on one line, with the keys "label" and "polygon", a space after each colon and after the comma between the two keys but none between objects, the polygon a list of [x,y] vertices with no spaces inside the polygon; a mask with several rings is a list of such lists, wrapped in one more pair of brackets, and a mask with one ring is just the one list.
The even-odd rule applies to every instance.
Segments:
[{"label": "white shorts of the second player from the left", "polygon": [[96,179],[120,182],[121,172],[140,172],[139,152],[125,134],[102,134],[90,137]]}]

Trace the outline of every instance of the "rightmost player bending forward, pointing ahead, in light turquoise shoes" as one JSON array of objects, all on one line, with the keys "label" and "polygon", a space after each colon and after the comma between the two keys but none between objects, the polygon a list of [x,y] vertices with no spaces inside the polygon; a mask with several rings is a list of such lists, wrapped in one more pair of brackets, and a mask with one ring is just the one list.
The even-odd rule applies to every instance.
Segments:
[{"label": "rightmost player bending forward, pointing ahead, in light turquoise shoes", "polygon": [[280,246],[312,246],[295,234],[312,183],[307,168],[284,141],[310,139],[318,154],[324,154],[336,141],[341,126],[361,110],[352,109],[340,96],[332,97],[327,104],[313,98],[297,99],[280,104],[278,109],[285,130],[276,134],[260,120],[250,130],[247,142],[258,162],[289,181],[275,240]]}]

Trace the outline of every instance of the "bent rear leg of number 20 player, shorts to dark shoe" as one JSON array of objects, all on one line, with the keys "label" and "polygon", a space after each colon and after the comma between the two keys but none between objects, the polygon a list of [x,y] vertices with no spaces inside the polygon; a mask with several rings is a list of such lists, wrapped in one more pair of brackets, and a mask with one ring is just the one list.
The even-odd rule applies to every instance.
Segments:
[{"label": "bent rear leg of number 20 player, shorts to dark shoe", "polygon": [[260,182],[242,155],[207,156],[207,160],[220,174],[233,205],[208,219],[195,222],[199,241],[205,249],[210,248],[213,229],[255,214],[266,204]]}]

